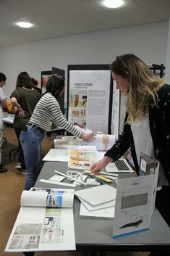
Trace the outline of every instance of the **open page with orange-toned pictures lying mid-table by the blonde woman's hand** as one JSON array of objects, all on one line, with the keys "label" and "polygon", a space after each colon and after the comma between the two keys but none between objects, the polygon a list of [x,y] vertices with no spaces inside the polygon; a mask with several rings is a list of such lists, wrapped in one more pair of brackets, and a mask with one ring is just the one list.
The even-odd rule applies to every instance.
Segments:
[{"label": "open page with orange-toned pictures lying mid-table by the blonde woman's hand", "polygon": [[69,149],[69,168],[90,170],[90,165],[97,162],[97,151],[85,149]]}]

